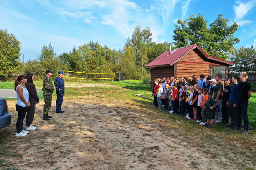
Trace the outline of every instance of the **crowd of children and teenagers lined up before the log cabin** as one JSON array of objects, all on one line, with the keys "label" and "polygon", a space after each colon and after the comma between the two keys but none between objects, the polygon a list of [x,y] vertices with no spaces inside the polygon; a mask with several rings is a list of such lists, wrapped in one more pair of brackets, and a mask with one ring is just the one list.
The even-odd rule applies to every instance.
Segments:
[{"label": "crowd of children and teenagers lined up before the log cabin", "polygon": [[[241,76],[246,81],[248,77],[246,74],[240,75],[242,82]],[[162,110],[162,105],[164,105],[164,111],[174,114],[177,114],[180,108],[180,116],[186,116],[186,118],[198,122],[199,125],[212,128],[213,122],[215,122],[231,127],[232,130],[239,130],[241,129],[241,113],[236,111],[239,77],[232,76],[232,86],[229,85],[230,78],[224,80],[224,86],[221,79],[221,74],[216,75],[215,79],[211,77],[205,79],[203,74],[198,80],[195,76],[180,77],[178,82],[173,77],[163,77],[163,79],[158,77],[155,79],[152,91],[154,108]],[[250,90],[250,87],[247,87],[248,89]],[[250,97],[247,96],[248,103]],[[229,125],[230,118],[231,124]],[[248,133],[248,127],[245,127],[245,131],[242,132]]]}]

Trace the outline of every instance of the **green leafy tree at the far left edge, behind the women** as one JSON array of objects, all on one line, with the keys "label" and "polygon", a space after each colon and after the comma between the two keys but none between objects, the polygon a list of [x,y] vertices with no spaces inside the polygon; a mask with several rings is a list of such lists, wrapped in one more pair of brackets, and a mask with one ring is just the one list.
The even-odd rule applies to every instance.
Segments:
[{"label": "green leafy tree at the far left edge, behind the women", "polygon": [[14,34],[0,28],[0,75],[7,77],[19,64],[20,44]]}]

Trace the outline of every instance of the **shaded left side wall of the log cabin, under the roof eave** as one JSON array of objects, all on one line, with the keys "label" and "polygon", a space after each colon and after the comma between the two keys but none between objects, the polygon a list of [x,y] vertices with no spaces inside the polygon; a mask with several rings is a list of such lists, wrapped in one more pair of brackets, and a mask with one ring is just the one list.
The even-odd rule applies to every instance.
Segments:
[{"label": "shaded left side wall of the log cabin, under the roof eave", "polygon": [[151,68],[151,88],[154,85],[154,79],[157,79],[157,77],[171,77],[173,76],[173,68],[174,66],[169,67],[156,67]]}]

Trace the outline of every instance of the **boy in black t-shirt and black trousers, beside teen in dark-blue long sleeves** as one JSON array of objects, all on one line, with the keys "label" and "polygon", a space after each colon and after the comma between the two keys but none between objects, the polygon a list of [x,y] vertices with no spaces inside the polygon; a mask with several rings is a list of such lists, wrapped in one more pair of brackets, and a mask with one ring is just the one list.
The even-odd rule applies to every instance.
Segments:
[{"label": "boy in black t-shirt and black trousers, beside teen in dark-blue long sleeves", "polygon": [[230,78],[226,78],[224,81],[224,89],[221,93],[222,96],[222,105],[221,105],[221,113],[222,113],[222,122],[219,122],[219,124],[222,125],[228,125],[229,122],[229,111],[228,111],[228,98],[230,94]]}]

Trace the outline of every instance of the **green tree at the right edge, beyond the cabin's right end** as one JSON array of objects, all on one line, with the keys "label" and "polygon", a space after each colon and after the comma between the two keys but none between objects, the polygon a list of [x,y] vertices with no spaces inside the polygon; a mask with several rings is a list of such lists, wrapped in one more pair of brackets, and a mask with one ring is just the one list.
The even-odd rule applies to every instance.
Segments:
[{"label": "green tree at the right edge, beyond the cabin's right end", "polygon": [[233,72],[256,74],[256,50],[253,45],[249,48],[239,47],[235,51]]}]

